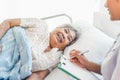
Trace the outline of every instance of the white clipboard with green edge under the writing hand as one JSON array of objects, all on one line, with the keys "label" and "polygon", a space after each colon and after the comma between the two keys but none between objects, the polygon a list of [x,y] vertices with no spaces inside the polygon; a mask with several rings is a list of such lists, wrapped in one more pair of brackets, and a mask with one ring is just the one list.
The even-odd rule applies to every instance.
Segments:
[{"label": "white clipboard with green edge under the writing hand", "polygon": [[58,69],[62,70],[76,80],[98,80],[90,71],[73,64],[64,55],[60,58]]}]

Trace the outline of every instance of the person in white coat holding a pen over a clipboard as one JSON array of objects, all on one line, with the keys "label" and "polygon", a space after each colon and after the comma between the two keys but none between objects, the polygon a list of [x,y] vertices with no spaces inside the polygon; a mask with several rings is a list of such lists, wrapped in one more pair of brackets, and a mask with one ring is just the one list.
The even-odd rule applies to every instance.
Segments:
[{"label": "person in white coat holding a pen over a clipboard", "polygon": [[[105,7],[108,8],[111,20],[120,20],[120,0],[107,0]],[[84,55],[79,55],[80,53],[78,50],[72,50],[70,56],[75,58],[72,58],[71,62],[102,74],[104,80],[120,80],[120,34],[101,65],[88,61]]]}]

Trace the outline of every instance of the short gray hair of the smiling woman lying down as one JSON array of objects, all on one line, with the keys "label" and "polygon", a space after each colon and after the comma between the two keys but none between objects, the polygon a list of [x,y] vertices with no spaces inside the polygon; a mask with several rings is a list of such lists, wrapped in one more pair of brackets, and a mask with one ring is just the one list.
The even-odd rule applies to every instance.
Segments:
[{"label": "short gray hair of the smiling woman lying down", "polygon": [[72,31],[75,32],[75,34],[76,34],[75,39],[74,39],[70,44],[68,44],[67,46],[73,44],[73,43],[79,38],[79,36],[80,36],[80,32],[78,32],[78,31],[74,28],[74,26],[72,26],[72,25],[70,25],[70,24],[63,24],[63,25],[61,25],[60,27],[57,27],[57,28],[69,28],[70,30],[72,30]]}]

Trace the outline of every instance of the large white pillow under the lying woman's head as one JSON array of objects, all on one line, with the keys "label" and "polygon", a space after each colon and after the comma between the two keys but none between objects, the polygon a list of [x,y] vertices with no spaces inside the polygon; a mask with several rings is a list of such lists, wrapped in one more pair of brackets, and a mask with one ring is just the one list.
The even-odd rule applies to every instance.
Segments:
[{"label": "large white pillow under the lying woman's head", "polygon": [[76,22],[73,26],[80,32],[80,36],[74,44],[64,50],[64,54],[69,57],[69,53],[73,49],[81,52],[89,50],[85,54],[86,58],[101,64],[114,40],[85,21]]}]

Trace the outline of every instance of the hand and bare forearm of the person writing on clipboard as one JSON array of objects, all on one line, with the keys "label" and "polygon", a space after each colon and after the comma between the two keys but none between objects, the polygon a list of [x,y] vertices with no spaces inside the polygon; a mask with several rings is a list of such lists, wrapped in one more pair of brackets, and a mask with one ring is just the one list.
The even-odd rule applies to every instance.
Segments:
[{"label": "hand and bare forearm of the person writing on clipboard", "polygon": [[84,55],[81,54],[78,50],[72,50],[70,52],[70,56],[72,57],[70,61],[79,67],[85,68],[89,71],[93,71],[101,74],[101,65],[88,61]]}]

